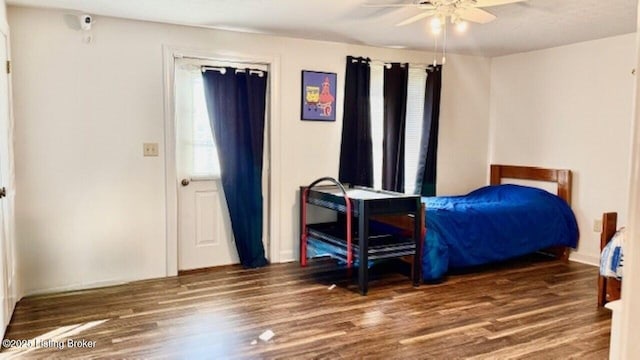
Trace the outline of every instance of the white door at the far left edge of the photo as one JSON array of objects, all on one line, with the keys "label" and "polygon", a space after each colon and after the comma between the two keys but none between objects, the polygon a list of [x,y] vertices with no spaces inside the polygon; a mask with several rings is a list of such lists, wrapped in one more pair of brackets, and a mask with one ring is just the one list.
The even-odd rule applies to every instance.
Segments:
[{"label": "white door at the far left edge of the photo", "polygon": [[[0,33],[0,66],[8,59],[7,37]],[[6,325],[17,301],[15,246],[13,233],[14,175],[13,175],[13,126],[10,117],[9,76],[0,70],[0,320],[4,335]]]}]

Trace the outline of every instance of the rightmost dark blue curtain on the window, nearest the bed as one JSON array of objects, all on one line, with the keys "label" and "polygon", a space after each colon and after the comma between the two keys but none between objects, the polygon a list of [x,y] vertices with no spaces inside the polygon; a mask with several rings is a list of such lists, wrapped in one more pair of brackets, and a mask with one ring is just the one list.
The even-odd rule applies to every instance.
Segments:
[{"label": "rightmost dark blue curtain on the window, nearest the bed", "polygon": [[422,196],[436,195],[436,170],[438,160],[438,129],[440,127],[440,92],[442,89],[442,65],[427,69],[424,94],[424,119],[420,143],[420,162],[416,191]]}]

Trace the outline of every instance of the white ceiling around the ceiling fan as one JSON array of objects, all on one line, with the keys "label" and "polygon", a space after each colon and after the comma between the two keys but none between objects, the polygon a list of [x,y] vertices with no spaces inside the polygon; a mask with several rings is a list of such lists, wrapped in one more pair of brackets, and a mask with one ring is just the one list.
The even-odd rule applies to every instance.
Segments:
[{"label": "white ceiling around the ceiling fan", "polygon": [[[428,20],[394,24],[420,10],[365,8],[411,0],[8,0],[9,5],[207,26],[374,46],[432,50]],[[498,19],[449,32],[447,51],[499,56],[634,32],[636,0],[528,0],[488,8]],[[96,26],[99,23],[97,23]]]}]

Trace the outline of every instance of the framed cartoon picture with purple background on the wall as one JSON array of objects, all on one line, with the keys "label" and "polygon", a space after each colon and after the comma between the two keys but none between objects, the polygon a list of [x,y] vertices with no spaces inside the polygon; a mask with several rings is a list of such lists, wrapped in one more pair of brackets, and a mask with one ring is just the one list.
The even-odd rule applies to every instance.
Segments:
[{"label": "framed cartoon picture with purple background on the wall", "polygon": [[335,73],[302,70],[302,120],[336,121]]}]

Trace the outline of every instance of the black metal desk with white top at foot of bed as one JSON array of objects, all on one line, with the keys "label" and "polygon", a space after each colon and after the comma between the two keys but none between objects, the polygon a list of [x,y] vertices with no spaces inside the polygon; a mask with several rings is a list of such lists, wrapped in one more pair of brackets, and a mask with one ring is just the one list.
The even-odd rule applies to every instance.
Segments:
[{"label": "black metal desk with white top at foot of bed", "polygon": [[[318,186],[320,182],[332,186]],[[344,214],[343,221],[307,224],[307,204],[332,209]],[[371,218],[383,215],[413,216],[413,231],[406,236],[400,231],[372,230]],[[344,261],[347,268],[358,263],[358,286],[367,294],[369,261],[413,256],[412,280],[419,286],[421,276],[421,204],[417,195],[379,191],[366,187],[343,187],[332,178],[321,178],[300,187],[300,264],[307,264],[307,246],[315,242],[330,246],[331,256]],[[353,229],[352,221],[357,221]]]}]

